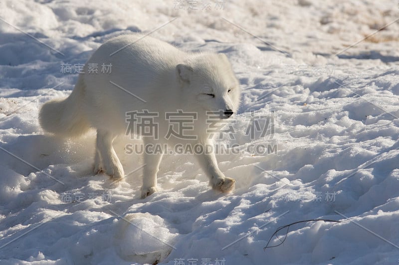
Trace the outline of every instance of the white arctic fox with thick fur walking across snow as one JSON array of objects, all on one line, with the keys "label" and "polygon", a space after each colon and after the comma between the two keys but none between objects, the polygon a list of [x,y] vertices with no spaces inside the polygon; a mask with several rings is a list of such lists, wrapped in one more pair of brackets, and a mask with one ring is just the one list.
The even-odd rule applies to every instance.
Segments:
[{"label": "white arctic fox with thick fur walking across snow", "polygon": [[[112,66],[108,73],[93,66]],[[92,67],[92,69],[90,69]],[[91,70],[91,71],[90,71]],[[124,177],[113,140],[127,131],[129,112],[157,113],[158,137],[141,133],[144,144],[213,144],[206,114],[220,112],[219,121],[229,118],[239,106],[240,87],[224,54],[187,53],[140,34],[122,35],[102,44],[79,74],[72,93],[46,102],[40,109],[41,127],[62,137],[76,137],[90,128],[97,130],[94,173]],[[190,137],[165,137],[171,124],[167,113],[196,113]],[[187,126],[186,126],[187,127]],[[140,133],[139,133],[140,134]],[[213,189],[228,192],[234,179],[225,177],[214,152],[196,154]],[[144,155],[141,196],[157,191],[161,153]]]}]

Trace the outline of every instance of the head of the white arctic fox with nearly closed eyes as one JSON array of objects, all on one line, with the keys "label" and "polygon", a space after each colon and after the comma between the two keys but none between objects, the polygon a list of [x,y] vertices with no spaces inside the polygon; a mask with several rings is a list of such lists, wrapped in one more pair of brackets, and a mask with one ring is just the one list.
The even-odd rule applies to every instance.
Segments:
[{"label": "head of the white arctic fox with nearly closed eyes", "polygon": [[229,118],[239,107],[241,89],[224,54],[199,54],[176,67],[179,83],[198,109]]}]

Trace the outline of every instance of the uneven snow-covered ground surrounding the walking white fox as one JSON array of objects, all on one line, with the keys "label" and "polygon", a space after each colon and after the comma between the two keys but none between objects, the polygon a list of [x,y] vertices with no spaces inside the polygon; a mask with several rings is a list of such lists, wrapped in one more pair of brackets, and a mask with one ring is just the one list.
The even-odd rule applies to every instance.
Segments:
[{"label": "uneven snow-covered ground surrounding the walking white fox", "polygon": [[[398,264],[398,18],[397,0],[1,0],[0,263]],[[113,183],[91,173],[93,132],[41,130],[40,105],[129,32],[230,59],[242,106],[218,144],[243,151],[217,158],[233,193],[167,155],[141,200],[133,140],[115,144],[133,173]],[[251,141],[253,117],[271,115],[274,133]],[[341,222],[292,225],[264,249],[309,219]]]}]

